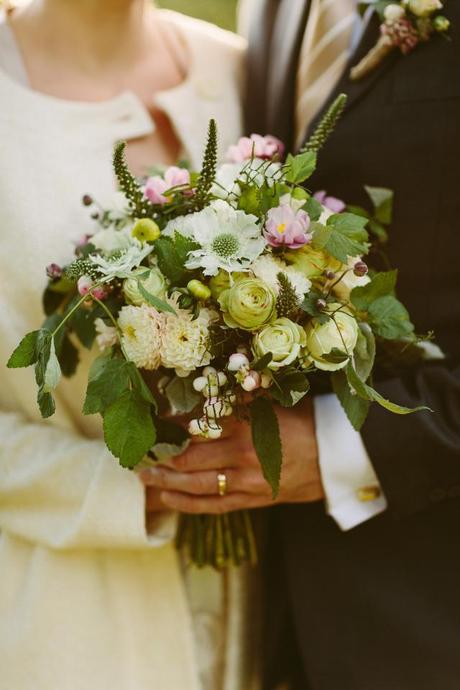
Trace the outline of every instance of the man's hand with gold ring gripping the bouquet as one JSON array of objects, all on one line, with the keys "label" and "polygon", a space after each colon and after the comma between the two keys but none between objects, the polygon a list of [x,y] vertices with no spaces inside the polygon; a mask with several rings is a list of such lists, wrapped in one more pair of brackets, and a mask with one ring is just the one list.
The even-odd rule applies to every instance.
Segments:
[{"label": "man's hand with gold ring gripping the bouquet", "polygon": [[[324,498],[318,465],[313,404],[277,408],[283,444],[280,494],[272,500],[246,422],[229,418],[225,437],[194,441],[179,457],[145,470],[146,485],[161,489],[161,501],[183,513],[225,513],[274,503],[303,503]],[[217,475],[227,477],[227,494],[218,495]]]}]

